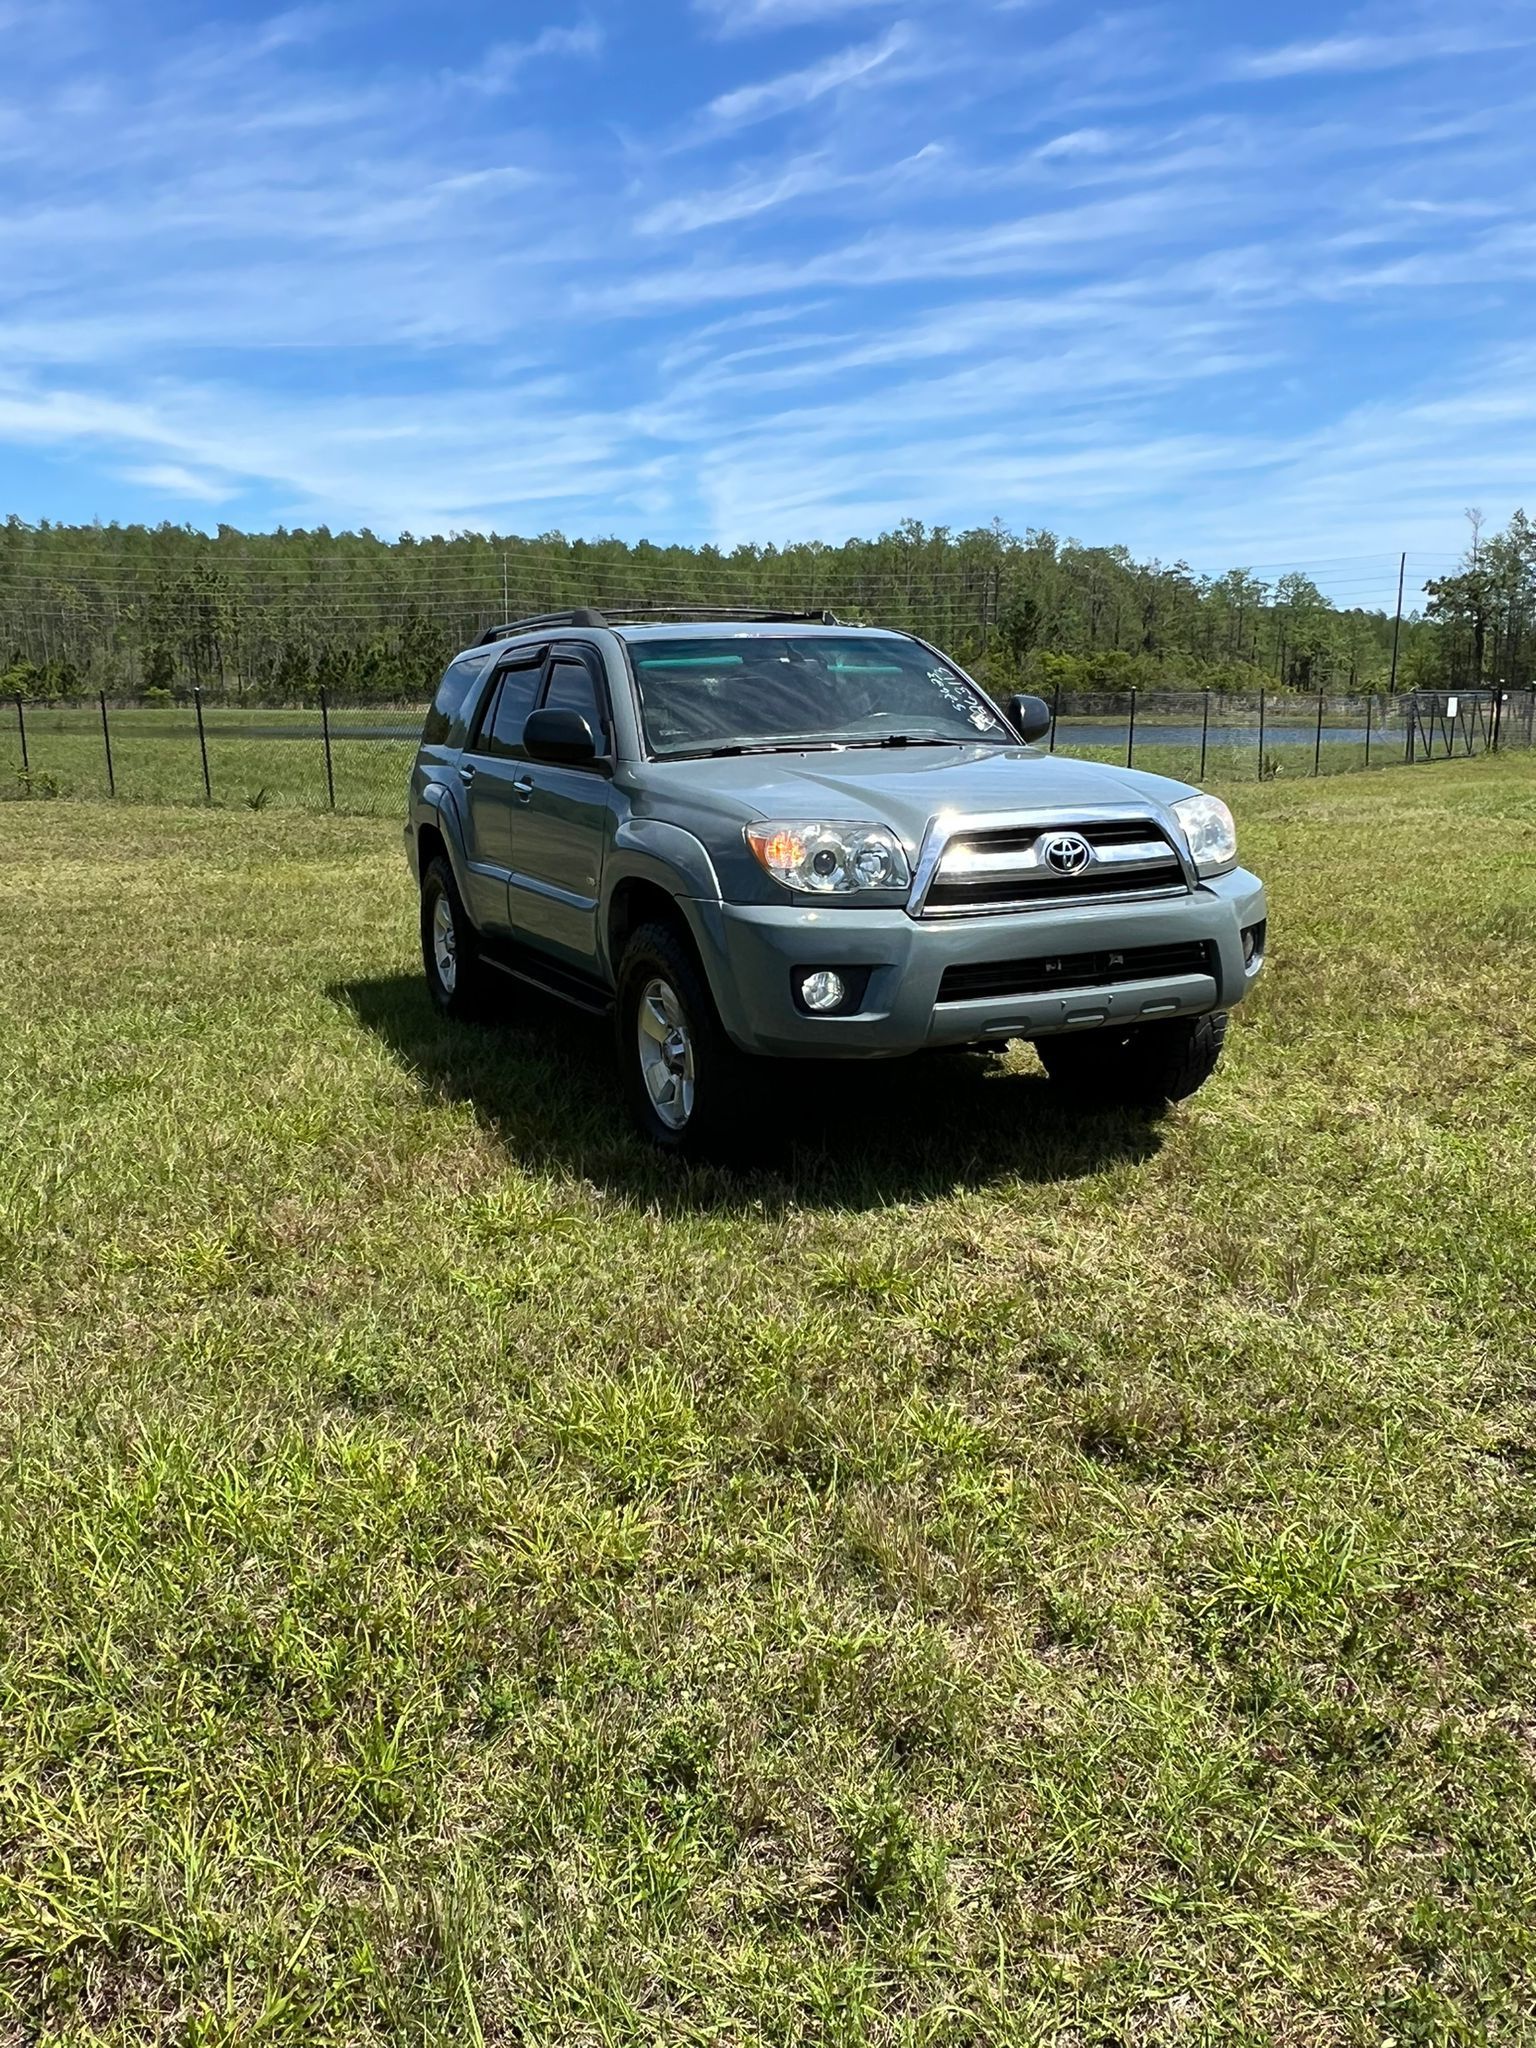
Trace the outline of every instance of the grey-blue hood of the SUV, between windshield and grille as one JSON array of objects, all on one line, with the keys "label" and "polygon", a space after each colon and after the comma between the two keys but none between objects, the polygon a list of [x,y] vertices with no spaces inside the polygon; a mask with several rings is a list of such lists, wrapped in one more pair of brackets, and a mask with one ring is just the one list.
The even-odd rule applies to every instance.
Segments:
[{"label": "grey-blue hood of the SUV, between windshield and grille", "polygon": [[[655,780],[653,780],[655,778]],[[1106,762],[1067,760],[1038,748],[850,748],[838,754],[743,754],[725,760],[651,762],[647,780],[739,819],[827,817],[891,825],[909,848],[940,811],[997,811],[1143,801],[1167,805],[1188,782]],[[676,778],[676,780],[674,780]]]}]

